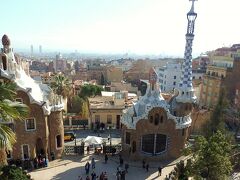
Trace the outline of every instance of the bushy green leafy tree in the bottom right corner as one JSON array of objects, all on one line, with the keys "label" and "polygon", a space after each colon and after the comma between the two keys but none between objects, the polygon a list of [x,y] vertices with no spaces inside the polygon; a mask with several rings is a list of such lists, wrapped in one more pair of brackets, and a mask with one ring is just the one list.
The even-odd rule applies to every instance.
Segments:
[{"label": "bushy green leafy tree in the bottom right corner", "polygon": [[203,136],[197,137],[192,158],[194,178],[227,179],[232,171],[231,150],[228,137],[221,131],[215,132],[208,139]]}]

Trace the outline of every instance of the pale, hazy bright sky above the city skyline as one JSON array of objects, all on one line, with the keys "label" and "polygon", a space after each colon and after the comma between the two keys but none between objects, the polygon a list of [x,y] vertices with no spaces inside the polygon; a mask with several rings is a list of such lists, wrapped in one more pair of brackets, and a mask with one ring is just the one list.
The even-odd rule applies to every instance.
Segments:
[{"label": "pale, hazy bright sky above the city skyline", "polygon": [[[184,54],[188,0],[0,0],[15,49]],[[240,43],[240,1],[198,0],[193,53]]]}]

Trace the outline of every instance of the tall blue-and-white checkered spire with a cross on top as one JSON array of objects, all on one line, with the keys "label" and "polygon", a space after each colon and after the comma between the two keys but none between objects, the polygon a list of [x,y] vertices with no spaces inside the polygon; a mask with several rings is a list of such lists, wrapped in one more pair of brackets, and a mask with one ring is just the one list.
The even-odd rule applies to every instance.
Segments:
[{"label": "tall blue-and-white checkered spire with a cross on top", "polygon": [[192,7],[187,13],[188,26],[186,34],[186,46],[184,53],[184,62],[182,65],[182,76],[179,83],[179,94],[176,97],[177,102],[193,103],[196,101],[192,85],[192,43],[194,39],[194,25],[197,18],[197,13],[194,12],[194,2],[192,1]]}]

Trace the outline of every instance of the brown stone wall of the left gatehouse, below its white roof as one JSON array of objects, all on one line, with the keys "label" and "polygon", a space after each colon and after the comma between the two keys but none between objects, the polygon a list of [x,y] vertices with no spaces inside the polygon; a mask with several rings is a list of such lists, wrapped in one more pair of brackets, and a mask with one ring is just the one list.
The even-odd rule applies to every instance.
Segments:
[{"label": "brown stone wall of the left gatehouse, below its white roof", "polygon": [[[30,109],[29,118],[35,119],[35,130],[26,130],[25,120],[15,121],[14,130],[17,142],[13,146],[12,158],[23,159],[24,154],[22,145],[29,146],[29,158],[33,159],[39,153],[50,155],[54,153],[56,158],[60,158],[64,145],[64,128],[62,121],[62,112],[51,112],[50,115],[44,115],[42,107],[37,104],[31,104],[28,95],[23,91],[17,91],[17,98],[21,98],[23,103]],[[61,136],[61,147],[57,147],[56,136]]]}]

